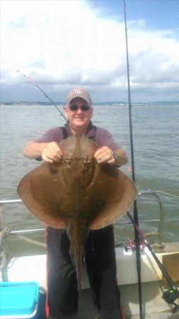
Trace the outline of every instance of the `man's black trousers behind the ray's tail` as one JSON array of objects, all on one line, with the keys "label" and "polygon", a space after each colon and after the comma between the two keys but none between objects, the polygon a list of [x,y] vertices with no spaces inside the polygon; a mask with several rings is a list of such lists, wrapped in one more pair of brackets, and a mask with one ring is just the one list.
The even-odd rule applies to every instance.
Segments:
[{"label": "man's black trousers behind the ray's tail", "polygon": [[[52,319],[73,318],[78,308],[74,264],[66,230],[47,227],[47,305]],[[85,242],[86,267],[99,318],[120,318],[113,226],[91,230]]]}]

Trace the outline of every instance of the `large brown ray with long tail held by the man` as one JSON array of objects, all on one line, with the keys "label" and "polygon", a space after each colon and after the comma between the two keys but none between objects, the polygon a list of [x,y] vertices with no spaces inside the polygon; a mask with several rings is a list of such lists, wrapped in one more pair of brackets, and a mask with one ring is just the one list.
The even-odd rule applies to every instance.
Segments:
[{"label": "large brown ray with long tail held by the man", "polygon": [[81,260],[89,230],[103,228],[126,213],[137,197],[134,183],[111,164],[98,164],[96,142],[81,134],[63,140],[62,162],[43,163],[25,175],[18,195],[43,223],[66,228],[80,288]]}]

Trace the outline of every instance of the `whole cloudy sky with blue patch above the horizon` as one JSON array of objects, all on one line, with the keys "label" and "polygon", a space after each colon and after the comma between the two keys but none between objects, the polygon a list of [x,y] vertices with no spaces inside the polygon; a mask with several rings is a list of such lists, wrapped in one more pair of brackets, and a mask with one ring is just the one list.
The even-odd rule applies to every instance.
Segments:
[{"label": "whole cloudy sky with blue patch above the horizon", "polygon": [[[133,102],[179,101],[179,1],[126,0]],[[123,0],[1,0],[1,101],[127,101]]]}]

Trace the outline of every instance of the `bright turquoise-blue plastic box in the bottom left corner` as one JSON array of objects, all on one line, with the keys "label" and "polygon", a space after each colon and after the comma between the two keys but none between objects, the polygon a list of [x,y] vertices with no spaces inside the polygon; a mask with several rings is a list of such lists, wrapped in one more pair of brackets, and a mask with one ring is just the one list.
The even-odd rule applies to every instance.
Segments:
[{"label": "bright turquoise-blue plastic box in the bottom left corner", "polygon": [[1,282],[0,318],[33,318],[37,311],[37,282]]}]

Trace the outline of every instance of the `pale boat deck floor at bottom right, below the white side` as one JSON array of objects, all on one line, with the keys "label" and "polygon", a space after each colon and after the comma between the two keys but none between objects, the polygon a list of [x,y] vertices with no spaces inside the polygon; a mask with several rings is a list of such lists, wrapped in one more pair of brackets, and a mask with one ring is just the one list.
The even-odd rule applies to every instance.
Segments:
[{"label": "pale boat deck floor at bottom right, below the white side", "polygon": [[[168,289],[168,287],[165,287]],[[125,319],[139,319],[139,303],[137,284],[120,286],[122,308]],[[160,281],[142,284],[143,319],[178,319],[179,313],[172,313],[162,298],[163,284]],[[95,319],[91,291],[85,289],[81,293],[81,305],[76,319]]]}]

